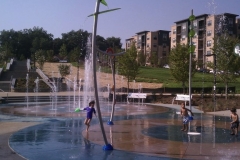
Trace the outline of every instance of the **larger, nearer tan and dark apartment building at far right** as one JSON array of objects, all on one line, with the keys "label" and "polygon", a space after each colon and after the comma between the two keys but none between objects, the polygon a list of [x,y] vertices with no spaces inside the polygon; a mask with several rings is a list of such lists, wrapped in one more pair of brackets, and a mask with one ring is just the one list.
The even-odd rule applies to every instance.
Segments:
[{"label": "larger, nearer tan and dark apartment building at far right", "polygon": [[[219,15],[202,14],[195,17],[193,28],[195,36],[193,37],[193,45],[195,51],[193,58],[198,62],[198,67],[202,68],[207,61],[213,62],[213,56],[206,57],[206,54],[212,54],[211,48],[214,44],[214,37],[224,31],[230,35],[240,37],[240,19],[236,19],[238,15],[231,13],[223,13]],[[189,42],[189,19],[183,19],[175,22],[171,27],[171,48],[177,43],[188,44]]]}]

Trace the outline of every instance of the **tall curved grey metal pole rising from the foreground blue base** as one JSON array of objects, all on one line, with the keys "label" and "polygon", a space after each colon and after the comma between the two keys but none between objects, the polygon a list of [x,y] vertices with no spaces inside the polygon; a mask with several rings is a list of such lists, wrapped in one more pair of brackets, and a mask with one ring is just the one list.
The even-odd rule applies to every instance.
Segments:
[{"label": "tall curved grey metal pole rising from the foreground blue base", "polygon": [[105,130],[102,122],[102,115],[100,111],[99,99],[98,99],[98,86],[97,86],[97,75],[96,75],[96,33],[97,33],[97,21],[98,21],[98,13],[99,13],[99,4],[100,0],[97,0],[95,7],[95,15],[94,15],[94,24],[93,24],[93,34],[92,34],[92,65],[93,65],[93,83],[94,83],[94,92],[95,92],[95,100],[96,100],[96,108],[98,112],[98,119],[103,135],[104,142],[107,146],[109,146],[107,137],[105,134]]}]

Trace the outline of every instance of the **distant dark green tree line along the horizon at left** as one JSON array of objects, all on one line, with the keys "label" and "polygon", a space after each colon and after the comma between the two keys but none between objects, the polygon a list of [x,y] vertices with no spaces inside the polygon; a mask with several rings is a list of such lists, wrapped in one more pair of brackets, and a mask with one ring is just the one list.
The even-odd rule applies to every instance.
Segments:
[{"label": "distant dark green tree line along the horizon at left", "polygon": [[[46,61],[68,60],[76,62],[84,59],[88,37],[91,33],[79,29],[62,33],[62,38],[54,38],[51,33],[40,27],[23,29],[20,31],[0,31],[0,61],[11,57],[18,60],[44,56]],[[109,47],[121,49],[121,39],[115,37],[104,38],[97,36],[97,47],[105,51]],[[43,58],[43,57],[41,57]]]}]

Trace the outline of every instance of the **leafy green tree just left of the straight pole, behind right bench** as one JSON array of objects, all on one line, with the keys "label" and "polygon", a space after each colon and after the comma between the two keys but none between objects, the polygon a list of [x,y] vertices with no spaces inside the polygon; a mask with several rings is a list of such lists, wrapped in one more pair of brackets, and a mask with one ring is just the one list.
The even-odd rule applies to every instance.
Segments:
[{"label": "leafy green tree just left of the straight pole, behind right bench", "polygon": [[[169,55],[169,66],[172,76],[177,82],[182,83],[183,93],[185,93],[186,82],[189,81],[189,51],[188,45],[177,44],[172,48]],[[196,72],[196,61],[192,60],[192,75]]]}]

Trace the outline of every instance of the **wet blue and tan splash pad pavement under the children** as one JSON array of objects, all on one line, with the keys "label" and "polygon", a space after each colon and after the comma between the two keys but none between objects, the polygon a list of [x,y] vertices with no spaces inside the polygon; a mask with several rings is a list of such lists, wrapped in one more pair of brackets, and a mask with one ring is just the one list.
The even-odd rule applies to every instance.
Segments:
[{"label": "wet blue and tan splash pad pavement under the children", "polygon": [[[12,155],[19,154],[30,160],[240,159],[240,139],[229,134],[228,117],[195,110],[190,131],[201,134],[188,135],[180,131],[182,120],[176,114],[178,105],[166,105],[167,108],[159,105],[117,106],[112,126],[107,125],[110,116],[108,107],[102,109],[104,129],[108,142],[113,145],[112,151],[102,149],[104,141],[97,118],[93,118],[89,132],[85,131],[85,113],[72,113],[67,117],[48,114],[42,117],[29,112],[33,115],[0,117],[1,123],[6,124],[16,121],[33,123],[28,124],[33,126],[23,129],[18,124],[8,125],[21,129],[9,138],[9,146],[14,151]],[[44,107],[38,109],[46,111]],[[10,113],[16,111],[13,109]]]}]

